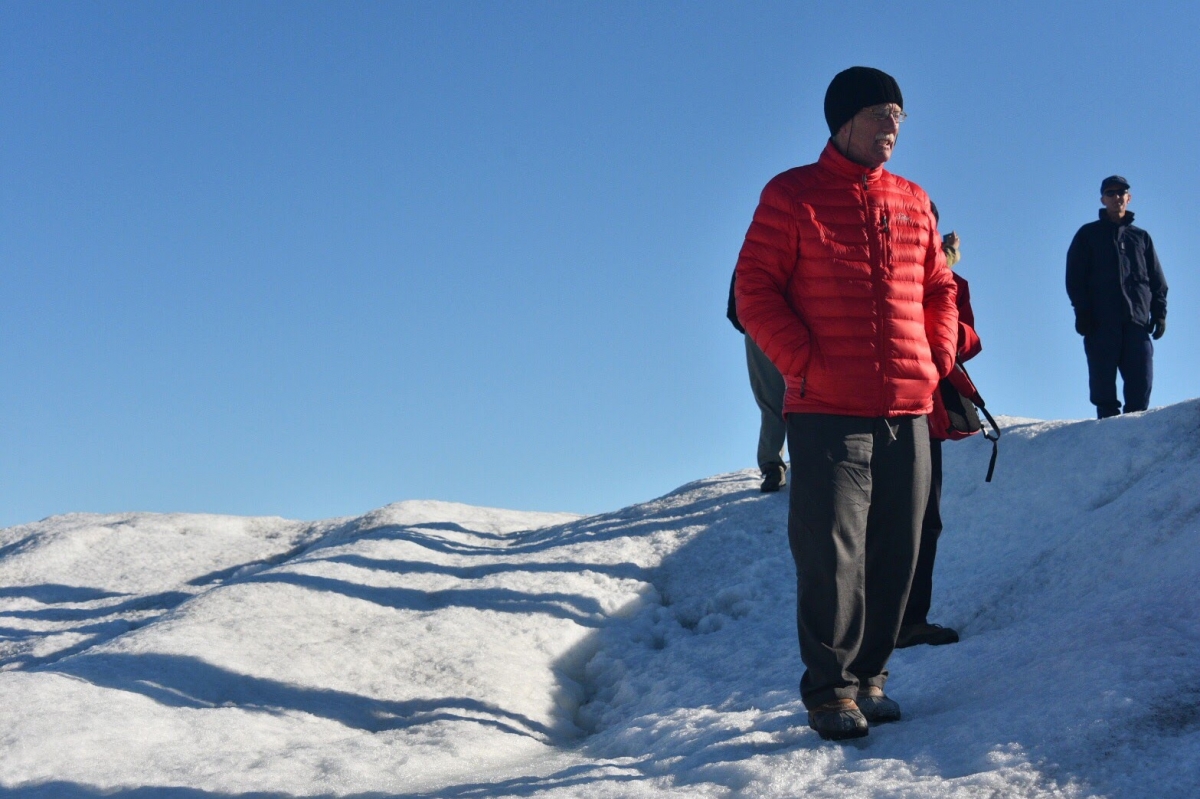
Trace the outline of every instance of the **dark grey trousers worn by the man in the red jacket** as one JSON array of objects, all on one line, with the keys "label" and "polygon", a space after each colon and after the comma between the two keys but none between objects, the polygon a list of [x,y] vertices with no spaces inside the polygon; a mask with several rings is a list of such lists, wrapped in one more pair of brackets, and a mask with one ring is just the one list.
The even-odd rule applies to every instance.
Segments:
[{"label": "dark grey trousers worn by the man in the red jacket", "polygon": [[806,708],[883,687],[929,498],[924,416],[787,416]]}]

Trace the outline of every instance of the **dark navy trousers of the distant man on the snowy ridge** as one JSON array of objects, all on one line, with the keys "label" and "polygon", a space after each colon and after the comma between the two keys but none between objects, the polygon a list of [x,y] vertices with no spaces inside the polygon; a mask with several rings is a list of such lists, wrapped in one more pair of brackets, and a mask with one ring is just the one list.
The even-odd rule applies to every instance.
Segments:
[{"label": "dark navy trousers of the distant man on the snowy ridge", "polygon": [[1117,372],[1121,373],[1124,411],[1150,408],[1154,384],[1154,343],[1150,329],[1132,322],[1098,324],[1084,336],[1087,354],[1087,385],[1099,419],[1121,413],[1117,401]]}]

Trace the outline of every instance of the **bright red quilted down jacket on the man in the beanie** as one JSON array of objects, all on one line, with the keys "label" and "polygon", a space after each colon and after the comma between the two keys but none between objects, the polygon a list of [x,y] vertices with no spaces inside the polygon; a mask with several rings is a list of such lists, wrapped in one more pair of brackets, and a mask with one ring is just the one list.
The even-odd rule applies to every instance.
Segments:
[{"label": "bright red quilted down jacket on the man in the beanie", "polygon": [[738,256],[738,319],[787,379],[785,414],[928,414],[954,299],[925,192],[832,142],[767,184]]}]

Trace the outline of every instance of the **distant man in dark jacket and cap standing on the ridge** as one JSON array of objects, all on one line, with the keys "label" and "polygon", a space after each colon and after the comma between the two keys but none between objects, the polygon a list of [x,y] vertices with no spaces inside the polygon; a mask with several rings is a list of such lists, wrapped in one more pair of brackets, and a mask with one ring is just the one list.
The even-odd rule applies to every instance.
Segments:
[{"label": "distant man in dark jacket and cap standing on the ridge", "polygon": [[1154,341],[1166,332],[1166,280],[1150,234],[1133,223],[1129,181],[1100,181],[1100,218],[1081,227],[1067,251],[1067,296],[1084,337],[1090,398],[1098,419],[1146,410]]}]

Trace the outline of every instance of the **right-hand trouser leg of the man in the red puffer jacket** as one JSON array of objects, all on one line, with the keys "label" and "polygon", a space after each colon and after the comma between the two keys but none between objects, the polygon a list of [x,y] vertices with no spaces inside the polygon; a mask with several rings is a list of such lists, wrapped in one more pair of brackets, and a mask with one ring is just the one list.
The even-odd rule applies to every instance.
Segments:
[{"label": "right-hand trouser leg of the man in the red puffer jacket", "polygon": [[866,522],[866,620],[850,672],[862,685],[883,687],[917,564],[931,481],[925,416],[880,422]]}]

